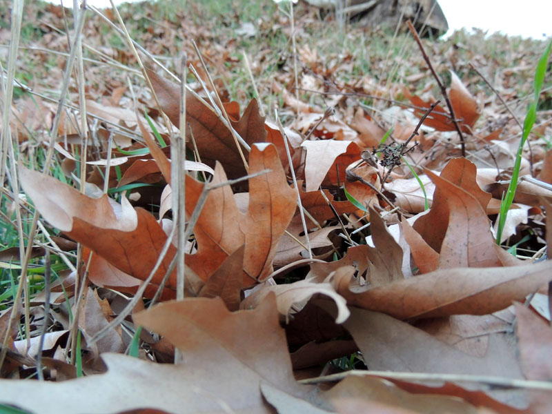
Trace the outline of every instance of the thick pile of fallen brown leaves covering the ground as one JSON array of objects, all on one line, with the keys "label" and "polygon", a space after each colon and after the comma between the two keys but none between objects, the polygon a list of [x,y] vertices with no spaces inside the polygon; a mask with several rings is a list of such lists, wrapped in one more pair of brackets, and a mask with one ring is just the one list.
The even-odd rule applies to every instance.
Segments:
[{"label": "thick pile of fallen brown leaves covering the ground", "polygon": [[[299,15],[299,30],[313,16]],[[79,247],[51,286],[3,302],[0,403],[36,413],[551,411],[549,111],[497,244],[521,130],[495,95],[474,97],[475,81],[451,72],[450,107],[437,103],[426,68],[404,74],[411,88],[337,79],[351,57],[322,63],[298,43],[298,73],[288,57],[259,86],[279,96],[276,112],[263,99],[244,110],[225,101],[232,92],[211,72],[233,58],[217,43],[218,55],[199,47],[215,69],[185,47],[197,74],[180,74],[185,106],[179,76],[152,61],[140,90],[90,88],[86,182],[77,79],[51,143],[57,107],[14,103],[18,149],[54,144],[63,177],[17,162],[25,196],[11,211],[32,221],[36,208],[36,238],[48,235],[28,249],[49,250],[49,279],[49,255]],[[132,52],[104,52],[140,75]],[[500,88],[513,101],[509,70]],[[327,99],[302,99],[306,90]]]}]

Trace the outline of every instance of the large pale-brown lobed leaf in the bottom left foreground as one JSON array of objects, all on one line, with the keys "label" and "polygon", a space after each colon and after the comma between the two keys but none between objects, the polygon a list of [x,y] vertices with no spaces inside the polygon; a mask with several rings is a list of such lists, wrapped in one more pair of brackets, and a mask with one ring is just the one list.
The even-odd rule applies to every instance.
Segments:
[{"label": "large pale-brown lobed leaf in the bottom left foreground", "polygon": [[293,379],[274,298],[237,313],[221,299],[165,302],[138,313],[135,321],[170,339],[184,364],[106,353],[105,374],[59,383],[0,380],[0,402],[45,414],[59,413],[60,407],[74,414],[148,407],[168,413],[271,413],[262,383],[316,401],[312,387]]}]

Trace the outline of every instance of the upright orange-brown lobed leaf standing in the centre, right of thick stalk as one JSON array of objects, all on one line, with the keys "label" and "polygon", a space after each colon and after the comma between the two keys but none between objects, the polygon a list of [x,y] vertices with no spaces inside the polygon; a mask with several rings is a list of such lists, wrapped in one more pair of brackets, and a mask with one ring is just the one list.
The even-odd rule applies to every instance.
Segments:
[{"label": "upright orange-brown lobed leaf standing in the centre, right of thick stalk", "polygon": [[[251,148],[249,172],[270,172],[249,180],[248,213],[237,209],[229,186],[211,190],[195,225],[197,253],[186,263],[206,281],[226,257],[245,244],[244,286],[262,281],[272,273],[277,244],[284,234],[297,199],[286,181],[275,146],[256,144]],[[221,166],[215,168],[213,184],[226,181]],[[186,176],[186,215],[191,215],[203,184]]]}]

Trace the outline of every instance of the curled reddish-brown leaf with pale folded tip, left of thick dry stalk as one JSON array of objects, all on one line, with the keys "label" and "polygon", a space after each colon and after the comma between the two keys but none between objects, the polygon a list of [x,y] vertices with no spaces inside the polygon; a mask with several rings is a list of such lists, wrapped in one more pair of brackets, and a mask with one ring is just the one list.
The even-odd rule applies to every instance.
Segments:
[{"label": "curled reddish-brown leaf with pale folded tip, left of thick dry stalk", "polygon": [[[26,168],[19,168],[19,176],[21,186],[52,226],[124,273],[147,279],[167,239],[155,217],[142,208],[135,210],[124,197],[122,204],[117,205],[106,195],[92,199],[52,177]],[[48,190],[44,191],[45,188]],[[118,209],[117,214],[114,207]],[[176,248],[169,246],[152,285],[159,286],[175,252]],[[165,285],[166,295],[174,295],[175,287],[173,273]]]}]

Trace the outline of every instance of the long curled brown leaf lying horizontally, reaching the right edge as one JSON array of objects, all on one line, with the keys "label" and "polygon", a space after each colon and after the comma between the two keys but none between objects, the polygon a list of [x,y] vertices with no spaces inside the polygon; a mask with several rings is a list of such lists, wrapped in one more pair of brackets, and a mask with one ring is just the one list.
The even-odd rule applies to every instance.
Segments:
[{"label": "long curled brown leaf lying horizontally, reaching the right edge", "polygon": [[338,269],[333,284],[348,304],[397,319],[487,315],[523,300],[552,280],[552,261],[495,268],[440,269],[375,288],[349,289],[352,272]]}]

